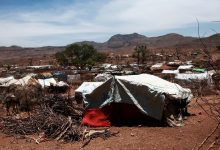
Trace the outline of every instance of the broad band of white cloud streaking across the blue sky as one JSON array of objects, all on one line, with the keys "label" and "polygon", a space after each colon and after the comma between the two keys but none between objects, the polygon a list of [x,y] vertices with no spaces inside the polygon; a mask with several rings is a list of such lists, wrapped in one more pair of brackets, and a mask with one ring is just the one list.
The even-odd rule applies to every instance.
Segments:
[{"label": "broad band of white cloud streaking across the blue sky", "polygon": [[[75,34],[79,37],[74,38],[77,41],[88,40],[89,34],[93,40],[98,35],[105,37],[103,34],[183,28],[196,24],[196,18],[200,22],[220,20],[219,6],[219,0],[111,0],[106,4],[96,0],[46,10],[10,12],[10,17],[0,21],[0,44],[29,45],[30,41],[30,46],[56,45],[56,40],[34,43],[33,39]],[[64,44],[64,40],[68,41],[64,38]]]}]

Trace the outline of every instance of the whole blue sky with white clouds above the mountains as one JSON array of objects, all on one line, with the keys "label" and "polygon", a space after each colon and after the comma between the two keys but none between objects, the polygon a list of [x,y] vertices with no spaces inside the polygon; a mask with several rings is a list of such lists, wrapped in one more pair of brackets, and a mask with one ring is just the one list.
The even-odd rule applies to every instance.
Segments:
[{"label": "whole blue sky with white clouds above the mountains", "polygon": [[0,0],[0,46],[105,42],[115,34],[220,32],[220,0]]}]

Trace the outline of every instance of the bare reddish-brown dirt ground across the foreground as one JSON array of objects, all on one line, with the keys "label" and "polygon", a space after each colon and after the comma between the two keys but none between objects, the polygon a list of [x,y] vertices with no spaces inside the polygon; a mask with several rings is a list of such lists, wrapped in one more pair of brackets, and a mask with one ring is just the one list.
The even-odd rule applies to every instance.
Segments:
[{"label": "bare reddish-brown dirt ground across the foreground", "polygon": [[[220,96],[209,96],[207,99],[210,103],[220,107]],[[204,103],[201,102],[201,105],[209,111]],[[188,117],[183,127],[111,127],[111,131],[119,131],[117,136],[110,137],[107,140],[94,139],[83,149],[196,149],[216,128],[217,121],[212,119],[195,102],[195,99],[190,103],[189,112],[192,115]],[[55,141],[36,144],[30,139],[15,139],[0,133],[1,150],[69,150],[80,149],[81,145],[81,142],[64,144]],[[201,149],[220,149],[220,128],[205,142]]]}]

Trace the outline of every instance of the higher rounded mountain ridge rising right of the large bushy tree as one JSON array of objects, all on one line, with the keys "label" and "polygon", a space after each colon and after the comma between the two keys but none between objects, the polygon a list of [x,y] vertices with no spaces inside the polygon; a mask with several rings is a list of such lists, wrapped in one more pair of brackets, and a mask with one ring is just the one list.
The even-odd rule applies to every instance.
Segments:
[{"label": "higher rounded mountain ridge rising right of the large bushy tree", "polygon": [[[219,34],[212,35],[210,37],[201,38],[207,46],[215,47],[220,44]],[[103,51],[131,51],[136,45],[145,44],[149,48],[176,48],[176,47],[187,47],[195,48],[202,47],[201,41],[196,37],[185,37],[176,33],[170,33],[158,37],[146,37],[138,33],[133,34],[116,34],[112,36],[108,41],[104,43],[96,42],[78,42],[93,45],[97,50]]]}]

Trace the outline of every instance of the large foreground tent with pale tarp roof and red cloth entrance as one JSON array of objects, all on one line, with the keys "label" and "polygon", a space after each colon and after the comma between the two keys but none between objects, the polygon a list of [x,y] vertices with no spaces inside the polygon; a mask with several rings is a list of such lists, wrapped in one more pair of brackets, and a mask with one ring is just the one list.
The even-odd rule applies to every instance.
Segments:
[{"label": "large foreground tent with pale tarp roof and red cloth entrance", "polygon": [[192,93],[190,89],[178,84],[141,74],[115,76],[97,86],[91,93],[85,93],[83,97],[86,113],[82,123],[106,126],[116,120],[132,121],[146,116],[162,120],[167,103],[179,104],[176,107],[182,107],[180,105],[184,103],[185,107],[190,102]]}]

